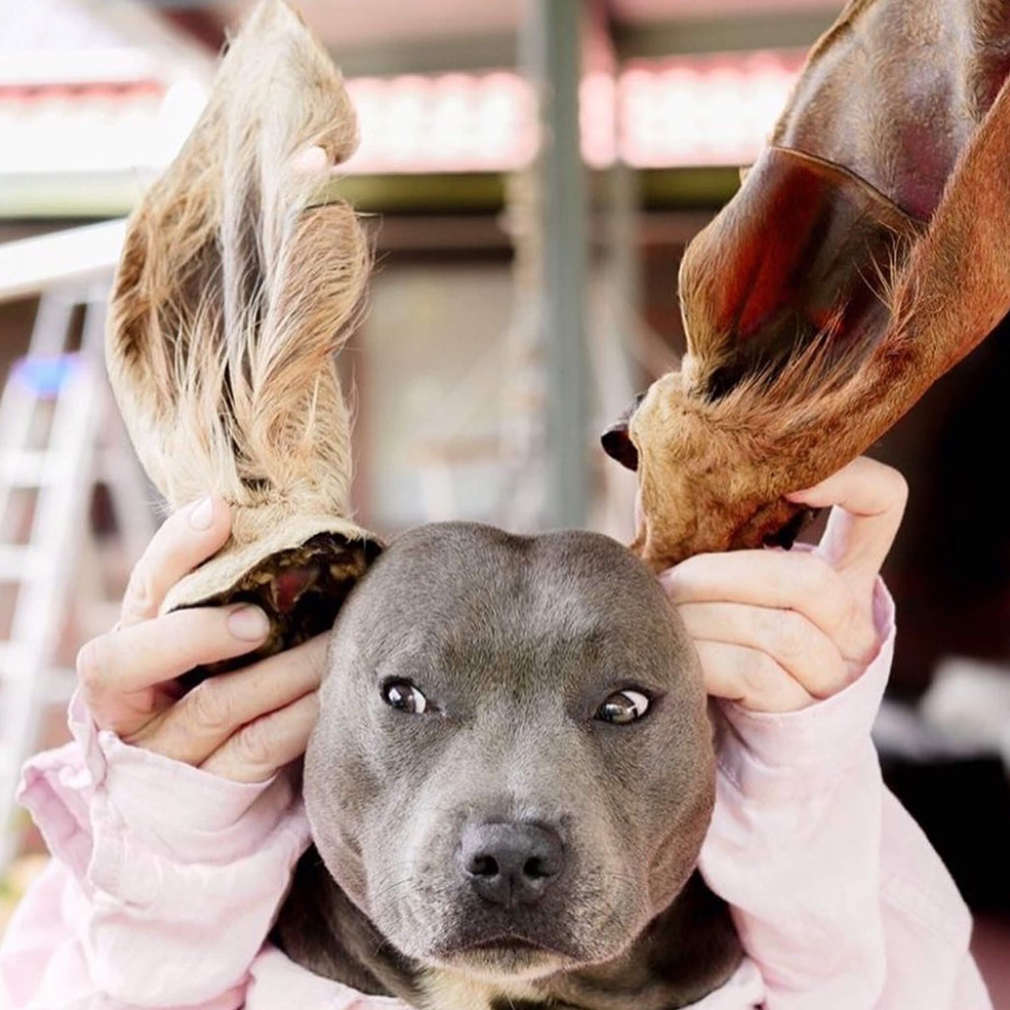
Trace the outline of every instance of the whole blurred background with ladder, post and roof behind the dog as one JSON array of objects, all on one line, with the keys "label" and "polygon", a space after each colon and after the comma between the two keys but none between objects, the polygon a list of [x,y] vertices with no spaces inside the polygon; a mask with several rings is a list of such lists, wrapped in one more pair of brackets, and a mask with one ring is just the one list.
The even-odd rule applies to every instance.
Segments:
[{"label": "whole blurred background with ladder, post and roof behind the dog", "polygon": [[[0,906],[38,866],[16,769],[158,522],[101,369],[121,219],[202,108],[246,3],[0,0]],[[684,247],[758,156],[838,0],[302,0],[362,142],[370,310],[341,358],[355,497],[437,519],[632,528],[597,434],[684,349]],[[1001,327],[1002,329],[1003,327]],[[873,454],[911,485],[878,740],[980,913],[1010,1007],[1010,339]],[[29,853],[25,858],[25,853]],[[0,929],[3,916],[0,911]],[[1003,988],[1001,988],[1003,987]]]}]

